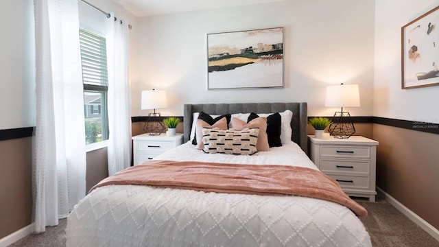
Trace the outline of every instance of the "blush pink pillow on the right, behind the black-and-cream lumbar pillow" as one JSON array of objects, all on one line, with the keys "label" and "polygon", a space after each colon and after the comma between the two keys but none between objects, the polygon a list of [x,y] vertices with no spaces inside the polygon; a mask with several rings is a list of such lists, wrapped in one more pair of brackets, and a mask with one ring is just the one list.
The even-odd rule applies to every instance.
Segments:
[{"label": "blush pink pillow on the right, behind the black-and-cream lumbar pillow", "polygon": [[230,126],[234,130],[243,130],[244,128],[259,128],[259,136],[256,144],[256,148],[258,151],[268,151],[270,150],[270,146],[268,145],[268,137],[267,137],[267,118],[266,117],[257,117],[252,121],[249,121],[248,124],[241,119],[236,117],[232,117],[230,121]]}]

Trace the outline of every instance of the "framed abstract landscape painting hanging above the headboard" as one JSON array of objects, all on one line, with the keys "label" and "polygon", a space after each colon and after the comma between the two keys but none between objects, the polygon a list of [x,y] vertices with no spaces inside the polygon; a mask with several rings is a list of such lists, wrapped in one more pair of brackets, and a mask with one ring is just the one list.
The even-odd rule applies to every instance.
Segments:
[{"label": "framed abstract landscape painting hanging above the headboard", "polygon": [[282,88],[284,28],[207,34],[207,88]]}]

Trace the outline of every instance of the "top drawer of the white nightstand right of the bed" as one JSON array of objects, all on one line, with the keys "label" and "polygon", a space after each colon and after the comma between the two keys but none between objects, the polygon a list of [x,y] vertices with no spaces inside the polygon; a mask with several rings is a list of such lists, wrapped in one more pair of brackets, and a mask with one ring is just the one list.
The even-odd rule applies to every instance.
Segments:
[{"label": "top drawer of the white nightstand right of the bed", "polygon": [[370,146],[322,145],[320,157],[370,158]]}]

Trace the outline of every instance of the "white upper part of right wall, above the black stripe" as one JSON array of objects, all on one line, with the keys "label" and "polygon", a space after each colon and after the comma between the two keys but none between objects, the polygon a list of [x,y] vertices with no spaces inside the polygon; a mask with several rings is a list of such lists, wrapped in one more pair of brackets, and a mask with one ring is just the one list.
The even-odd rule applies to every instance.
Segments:
[{"label": "white upper part of right wall, above the black stripe", "polygon": [[437,5],[437,0],[375,1],[374,116],[439,123],[439,86],[401,89],[401,27]]}]

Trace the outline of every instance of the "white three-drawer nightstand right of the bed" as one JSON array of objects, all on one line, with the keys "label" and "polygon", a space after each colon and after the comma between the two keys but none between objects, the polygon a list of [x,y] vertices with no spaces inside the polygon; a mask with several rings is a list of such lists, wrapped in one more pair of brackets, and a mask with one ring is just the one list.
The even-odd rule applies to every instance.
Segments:
[{"label": "white three-drawer nightstand right of the bed", "polygon": [[316,139],[308,136],[310,158],[317,167],[340,183],[348,196],[375,202],[378,141],[352,136],[348,139]]}]

